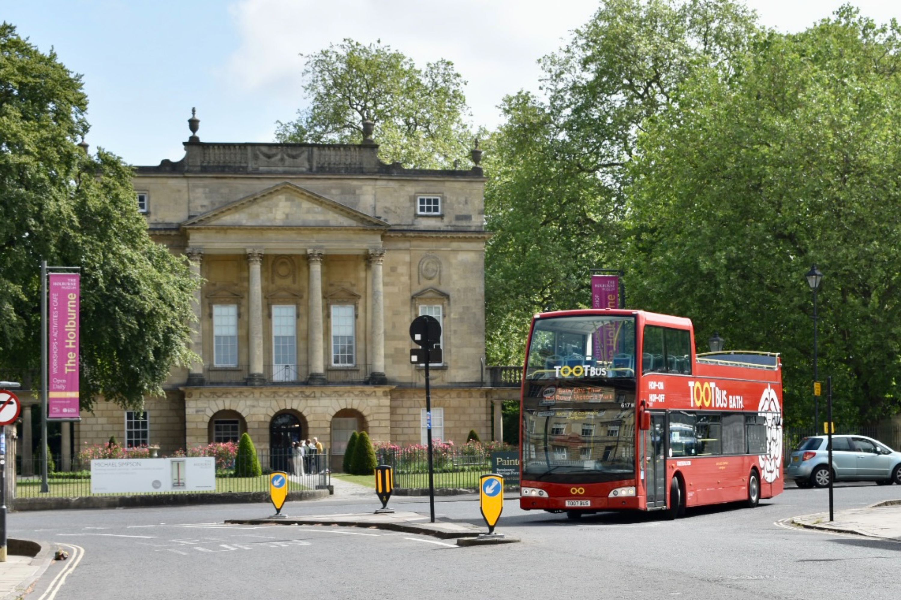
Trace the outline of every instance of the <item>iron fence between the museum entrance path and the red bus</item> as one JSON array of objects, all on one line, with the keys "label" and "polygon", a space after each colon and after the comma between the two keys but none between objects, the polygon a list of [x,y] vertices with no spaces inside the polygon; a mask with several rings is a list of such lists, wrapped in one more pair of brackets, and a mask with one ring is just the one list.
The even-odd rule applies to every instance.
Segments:
[{"label": "iron fence between the museum entrance path and the red bus", "polygon": [[[492,472],[491,454],[518,452],[516,446],[502,443],[451,446],[438,443],[432,452],[435,488],[478,489],[478,478]],[[429,451],[424,446],[378,448],[379,464],[394,468],[396,488],[427,489],[429,487]],[[517,479],[505,478],[505,486],[518,486]]]}]

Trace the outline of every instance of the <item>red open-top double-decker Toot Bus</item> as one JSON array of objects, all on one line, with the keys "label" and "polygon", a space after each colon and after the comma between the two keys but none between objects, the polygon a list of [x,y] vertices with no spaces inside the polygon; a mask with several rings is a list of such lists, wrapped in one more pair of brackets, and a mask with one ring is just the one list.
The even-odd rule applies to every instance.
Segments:
[{"label": "red open-top double-decker Toot Bus", "polygon": [[523,373],[520,506],[570,518],[760,498],[783,489],[778,354],[696,354],[687,318],[536,315]]}]

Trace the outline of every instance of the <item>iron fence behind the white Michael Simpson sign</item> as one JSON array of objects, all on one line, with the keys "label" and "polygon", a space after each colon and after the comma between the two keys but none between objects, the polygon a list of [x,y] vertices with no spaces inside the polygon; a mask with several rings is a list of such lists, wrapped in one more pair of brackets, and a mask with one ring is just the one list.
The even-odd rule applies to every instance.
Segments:
[{"label": "iron fence behind the white Michael Simpson sign", "polygon": [[[132,457],[135,458],[135,457]],[[145,457],[141,457],[145,458]],[[332,485],[329,469],[330,453],[326,450],[318,456],[308,457],[301,463],[292,460],[289,452],[257,452],[259,471],[255,461],[235,458],[216,458],[216,488],[214,491],[190,492],[128,492],[123,494],[94,494],[91,492],[91,464],[73,457],[68,469],[63,470],[62,457],[52,456],[48,461],[48,491],[41,492],[41,459],[22,464],[15,478],[15,497],[89,497],[89,496],[158,496],[159,494],[233,494],[269,491],[269,473],[282,470],[288,473],[288,491],[322,489]],[[104,459],[106,460],[106,459]],[[60,465],[60,466],[58,466]],[[26,469],[25,467],[29,467]],[[259,472],[259,475],[256,474]],[[33,473],[24,475],[22,473]]]}]

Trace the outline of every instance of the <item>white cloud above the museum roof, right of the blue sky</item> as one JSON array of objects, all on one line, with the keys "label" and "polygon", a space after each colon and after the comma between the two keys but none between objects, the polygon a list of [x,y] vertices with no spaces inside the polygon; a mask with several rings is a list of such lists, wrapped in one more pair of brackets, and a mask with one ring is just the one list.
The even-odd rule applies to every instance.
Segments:
[{"label": "white cloud above the museum roof, right of the blue sky", "polygon": [[247,94],[300,108],[300,54],[344,38],[381,40],[420,66],[451,60],[469,82],[473,120],[495,126],[501,98],[537,89],[537,59],[560,48],[596,6],[596,0],[241,0],[230,7],[240,42],[225,73]]}]

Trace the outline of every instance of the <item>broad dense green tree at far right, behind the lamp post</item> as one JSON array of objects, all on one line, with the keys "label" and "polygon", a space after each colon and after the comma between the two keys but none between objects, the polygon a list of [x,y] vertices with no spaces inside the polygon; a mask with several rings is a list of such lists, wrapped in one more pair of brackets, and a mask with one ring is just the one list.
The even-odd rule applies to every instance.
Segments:
[{"label": "broad dense green tree at far right, behind the lamp post", "polygon": [[780,352],[789,424],[813,421],[813,263],[825,273],[818,354],[833,419],[901,408],[899,97],[896,22],[844,6],[801,33],[760,33],[733,68],[697,70],[646,122],[633,299],[693,318],[696,340],[715,329],[730,348]]}]

